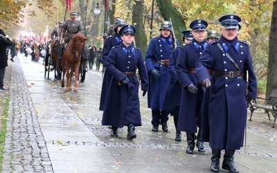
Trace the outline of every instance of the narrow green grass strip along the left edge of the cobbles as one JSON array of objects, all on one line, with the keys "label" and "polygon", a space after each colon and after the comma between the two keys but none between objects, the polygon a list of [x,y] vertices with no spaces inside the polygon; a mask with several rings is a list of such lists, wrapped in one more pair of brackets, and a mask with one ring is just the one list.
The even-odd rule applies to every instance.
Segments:
[{"label": "narrow green grass strip along the left edge of the cobbles", "polygon": [[8,117],[8,106],[10,102],[10,96],[6,98],[3,102],[3,114],[0,114],[0,172],[2,170],[2,162],[3,162],[3,150],[5,145],[5,137],[6,137],[6,127],[7,127],[7,117]]}]

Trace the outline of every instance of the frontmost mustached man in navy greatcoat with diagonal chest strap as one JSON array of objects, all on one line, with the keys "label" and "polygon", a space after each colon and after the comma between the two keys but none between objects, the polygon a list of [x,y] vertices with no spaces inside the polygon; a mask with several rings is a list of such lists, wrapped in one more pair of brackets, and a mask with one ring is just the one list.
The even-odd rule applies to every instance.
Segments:
[{"label": "frontmost mustached man in navy greatcoat with diagonal chest strap", "polygon": [[[207,88],[203,106],[208,110],[202,112],[202,131],[212,149],[211,172],[220,170],[221,149],[225,149],[222,169],[239,172],[233,156],[235,149],[243,146],[247,103],[257,95],[249,45],[237,37],[240,20],[238,15],[220,17],[222,35],[208,44],[196,66],[199,82]],[[211,75],[207,69],[213,70]]]}]

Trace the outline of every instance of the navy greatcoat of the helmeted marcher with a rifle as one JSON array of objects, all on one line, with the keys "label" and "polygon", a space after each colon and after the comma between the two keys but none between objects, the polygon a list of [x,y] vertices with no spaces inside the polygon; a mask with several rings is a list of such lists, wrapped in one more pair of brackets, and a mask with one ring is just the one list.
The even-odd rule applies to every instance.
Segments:
[{"label": "navy greatcoat of the helmeted marcher with a rifle", "polygon": [[150,89],[148,91],[148,107],[152,110],[163,110],[163,100],[171,80],[168,66],[155,61],[169,60],[171,52],[171,37],[164,39],[160,35],[150,40],[148,51],[145,56],[146,68],[148,73],[150,73],[152,69],[156,69],[160,72],[159,79],[154,79],[152,75],[149,75]]}]

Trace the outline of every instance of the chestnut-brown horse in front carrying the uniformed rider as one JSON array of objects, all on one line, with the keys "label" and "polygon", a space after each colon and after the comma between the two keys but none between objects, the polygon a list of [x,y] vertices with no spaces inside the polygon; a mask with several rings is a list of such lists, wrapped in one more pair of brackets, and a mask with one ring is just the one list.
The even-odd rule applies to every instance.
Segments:
[{"label": "chestnut-brown horse in front carrying the uniformed rider", "polygon": [[86,45],[87,37],[84,37],[81,33],[74,35],[64,49],[62,55],[62,87],[64,87],[64,75],[66,73],[66,89],[65,91],[71,91],[71,79],[75,72],[75,85],[74,92],[78,91],[78,77],[79,67],[81,62],[82,50]]}]

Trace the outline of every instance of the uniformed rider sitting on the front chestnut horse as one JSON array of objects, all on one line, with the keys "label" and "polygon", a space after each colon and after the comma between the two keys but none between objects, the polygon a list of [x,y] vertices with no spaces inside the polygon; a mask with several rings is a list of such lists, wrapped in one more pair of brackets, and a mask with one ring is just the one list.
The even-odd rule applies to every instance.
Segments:
[{"label": "uniformed rider sitting on the front chestnut horse", "polygon": [[84,28],[82,23],[76,20],[77,12],[73,11],[70,13],[70,20],[65,21],[64,26],[62,26],[62,35],[65,37],[60,44],[59,59],[62,60],[62,53],[64,51],[64,45],[70,41],[70,39],[77,33],[83,33]]}]

